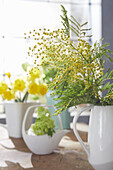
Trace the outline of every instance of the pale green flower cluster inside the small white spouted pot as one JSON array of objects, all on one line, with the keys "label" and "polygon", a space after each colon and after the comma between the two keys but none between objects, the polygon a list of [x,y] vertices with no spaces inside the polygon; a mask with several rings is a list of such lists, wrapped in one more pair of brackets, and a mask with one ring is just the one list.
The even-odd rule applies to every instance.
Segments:
[{"label": "pale green flower cluster inside the small white spouted pot", "polygon": [[36,110],[37,118],[35,123],[31,126],[33,132],[36,135],[44,135],[52,136],[55,133],[55,123],[51,118],[51,113],[48,109],[44,107],[38,107]]}]

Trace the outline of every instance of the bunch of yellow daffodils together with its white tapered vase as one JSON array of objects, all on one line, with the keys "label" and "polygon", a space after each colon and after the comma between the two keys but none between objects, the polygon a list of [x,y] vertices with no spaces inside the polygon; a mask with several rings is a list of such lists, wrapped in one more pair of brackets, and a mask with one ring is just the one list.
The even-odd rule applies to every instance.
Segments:
[{"label": "bunch of yellow daffodils together with its white tapered vase", "polygon": [[36,67],[20,78],[13,79],[10,73],[5,76],[0,82],[0,95],[5,106],[9,136],[18,138],[22,137],[22,121],[26,109],[37,104],[36,101],[30,100],[30,97],[34,99],[34,96],[44,96],[48,87],[43,82],[41,71]]}]

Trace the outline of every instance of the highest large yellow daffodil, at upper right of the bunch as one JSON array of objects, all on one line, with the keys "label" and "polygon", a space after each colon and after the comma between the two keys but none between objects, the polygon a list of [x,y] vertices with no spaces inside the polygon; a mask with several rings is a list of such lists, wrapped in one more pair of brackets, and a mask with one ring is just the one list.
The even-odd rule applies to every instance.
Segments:
[{"label": "highest large yellow daffodil, at upper right of the bunch", "polygon": [[40,70],[37,67],[32,68],[29,71],[28,81],[34,81],[36,78],[40,78]]}]

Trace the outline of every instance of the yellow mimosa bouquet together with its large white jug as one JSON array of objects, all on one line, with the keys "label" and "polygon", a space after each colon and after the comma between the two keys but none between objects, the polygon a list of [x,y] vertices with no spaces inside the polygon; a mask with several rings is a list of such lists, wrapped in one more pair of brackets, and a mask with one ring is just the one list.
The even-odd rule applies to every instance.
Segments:
[{"label": "yellow mimosa bouquet together with its large white jug", "polygon": [[[79,104],[90,104],[83,108],[73,119],[74,133],[88,155],[94,169],[113,169],[113,70],[105,71],[105,59],[113,62],[109,44],[88,41],[87,22],[80,24],[73,16],[68,18],[64,10],[64,29],[33,30],[31,37],[36,45],[29,48],[28,55],[34,57],[37,66],[55,68],[57,74],[49,83],[53,95],[57,95],[56,114]],[[77,41],[70,37],[70,30],[77,36]],[[69,34],[68,34],[69,33]],[[27,36],[26,36],[27,37]],[[25,38],[26,38],[25,37]],[[92,107],[93,105],[93,107]],[[88,144],[81,140],[76,122],[79,115],[92,109]],[[96,141],[96,142],[95,142]]]}]

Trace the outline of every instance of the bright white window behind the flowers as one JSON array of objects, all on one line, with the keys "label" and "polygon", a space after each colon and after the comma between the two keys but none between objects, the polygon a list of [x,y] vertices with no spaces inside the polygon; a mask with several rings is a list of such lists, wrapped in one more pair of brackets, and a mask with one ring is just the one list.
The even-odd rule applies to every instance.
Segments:
[{"label": "bright white window behind the flowers", "polygon": [[[29,43],[24,33],[38,28],[61,28],[61,4],[80,23],[88,21],[91,42],[101,38],[101,0],[0,0],[0,75],[23,72],[21,64],[29,61]],[[75,37],[73,37],[75,38]]]}]

